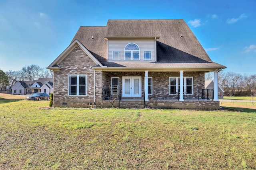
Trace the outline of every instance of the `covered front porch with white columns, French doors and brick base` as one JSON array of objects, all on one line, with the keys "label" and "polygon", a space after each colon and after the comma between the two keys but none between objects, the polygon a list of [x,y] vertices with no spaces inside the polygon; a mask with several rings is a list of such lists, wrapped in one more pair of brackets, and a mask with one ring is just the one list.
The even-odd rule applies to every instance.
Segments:
[{"label": "covered front porch with white columns, French doors and brick base", "polygon": [[[175,108],[177,102],[182,102],[179,104],[185,104],[186,108],[196,108],[195,106],[198,105],[205,109],[205,102],[210,102],[218,105],[214,106],[217,109],[218,91],[216,93],[212,89],[204,89],[204,72],[201,70],[104,72],[102,100],[114,99],[116,107],[122,107],[122,103],[126,103],[126,107],[129,105],[133,107],[138,105],[137,102],[139,107],[144,108]],[[214,82],[218,82],[217,74],[218,71],[214,71],[214,79],[216,78]],[[154,105],[156,101],[157,105]],[[188,106],[189,103],[194,106]]]}]

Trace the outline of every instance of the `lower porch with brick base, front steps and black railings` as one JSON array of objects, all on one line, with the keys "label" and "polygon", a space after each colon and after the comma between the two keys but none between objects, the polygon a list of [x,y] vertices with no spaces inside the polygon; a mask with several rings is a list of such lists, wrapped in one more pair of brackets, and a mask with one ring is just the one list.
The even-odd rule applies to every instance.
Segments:
[{"label": "lower porch with brick base, front steps and black railings", "polygon": [[213,90],[193,90],[192,94],[184,93],[183,100],[180,100],[178,92],[169,94],[168,89],[153,90],[148,95],[148,101],[145,100],[145,93],[142,97],[127,98],[120,95],[120,89],[118,92],[113,92],[111,88],[103,90],[105,107],[111,107],[110,103],[114,101],[113,106],[119,108],[219,109],[219,101],[213,100]]}]

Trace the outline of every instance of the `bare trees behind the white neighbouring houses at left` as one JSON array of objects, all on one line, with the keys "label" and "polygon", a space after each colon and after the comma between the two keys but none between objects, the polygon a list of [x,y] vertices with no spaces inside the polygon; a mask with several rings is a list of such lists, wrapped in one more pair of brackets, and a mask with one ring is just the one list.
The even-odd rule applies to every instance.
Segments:
[{"label": "bare trees behind the white neighbouring houses at left", "polygon": [[0,91],[9,90],[17,81],[34,81],[38,78],[53,78],[53,72],[36,64],[24,66],[19,71],[0,70]]}]

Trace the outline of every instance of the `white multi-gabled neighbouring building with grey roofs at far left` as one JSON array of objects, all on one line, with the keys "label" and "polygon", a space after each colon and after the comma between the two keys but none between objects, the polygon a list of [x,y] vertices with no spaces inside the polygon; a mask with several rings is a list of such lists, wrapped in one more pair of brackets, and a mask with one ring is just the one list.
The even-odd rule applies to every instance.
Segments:
[{"label": "white multi-gabled neighbouring building with grey roofs at far left", "polygon": [[12,94],[33,94],[36,92],[53,92],[53,78],[39,78],[34,81],[17,81],[12,86]]}]

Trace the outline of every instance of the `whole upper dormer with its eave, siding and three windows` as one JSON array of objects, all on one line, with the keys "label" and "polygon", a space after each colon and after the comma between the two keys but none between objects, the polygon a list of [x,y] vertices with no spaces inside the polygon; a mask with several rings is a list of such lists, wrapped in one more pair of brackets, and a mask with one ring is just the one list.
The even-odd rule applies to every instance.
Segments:
[{"label": "whole upper dormer with its eave, siding and three windows", "polygon": [[108,40],[108,62],[156,62],[156,39],[160,36],[104,38]]}]

